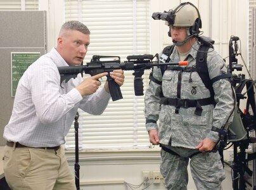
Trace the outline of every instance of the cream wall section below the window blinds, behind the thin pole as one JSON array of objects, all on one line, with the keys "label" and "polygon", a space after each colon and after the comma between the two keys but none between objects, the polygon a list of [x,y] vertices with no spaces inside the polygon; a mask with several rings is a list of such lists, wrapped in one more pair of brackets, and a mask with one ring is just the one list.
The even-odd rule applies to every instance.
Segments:
[{"label": "cream wall section below the window blinds, behind the thin pole", "polygon": [[[69,152],[70,168],[74,170],[74,153]],[[73,158],[72,158],[73,157]],[[122,190],[125,182],[139,185],[143,182],[143,171],[149,171],[150,184],[153,182],[153,171],[159,171],[160,154],[151,151],[103,151],[80,154],[80,187],[86,190]],[[74,171],[75,172],[75,171]],[[139,189],[143,189],[141,186]],[[189,172],[189,189],[196,189]],[[135,188],[134,188],[135,189]],[[148,190],[164,190],[163,179],[160,183],[151,184]],[[226,189],[228,190],[228,189]]]}]

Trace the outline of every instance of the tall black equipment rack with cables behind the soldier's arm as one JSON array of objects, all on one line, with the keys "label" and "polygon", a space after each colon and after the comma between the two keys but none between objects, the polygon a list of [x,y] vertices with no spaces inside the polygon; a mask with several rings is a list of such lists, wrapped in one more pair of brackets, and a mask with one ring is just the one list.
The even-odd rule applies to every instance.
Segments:
[{"label": "tall black equipment rack with cables behind the soldier's arm", "polygon": [[[239,37],[231,36],[229,40],[229,72],[232,74],[234,70],[241,71],[241,65],[238,64],[238,60],[236,56],[241,55],[238,53],[238,44]],[[234,44],[233,44],[234,42]],[[234,48],[233,48],[234,45]],[[228,137],[229,141],[233,142],[234,150],[233,150],[233,163],[229,165],[229,167],[233,170],[233,189],[234,190],[245,190],[246,184],[250,184],[246,180],[245,174],[255,175],[255,171],[250,170],[248,167],[248,162],[256,159],[256,152],[255,153],[246,153],[246,149],[250,143],[256,143],[255,137],[250,137],[250,131],[256,130],[256,103],[255,103],[255,93],[254,87],[256,81],[252,79],[245,79],[245,75],[232,75],[232,82],[233,87],[236,91],[236,103],[237,103],[237,110],[234,111],[234,120],[233,124],[229,126],[229,132],[232,134]],[[243,88],[246,85],[246,92],[242,93]],[[245,96],[247,95],[247,97]],[[246,109],[245,111],[241,111],[240,100],[246,99]],[[250,109],[252,110],[252,115],[250,114]],[[231,133],[231,131],[236,131]],[[233,135],[237,136],[238,138],[233,139]],[[244,135],[245,134],[245,135]],[[253,186],[252,186],[253,187]],[[256,190],[256,187],[253,187],[253,190]]]}]

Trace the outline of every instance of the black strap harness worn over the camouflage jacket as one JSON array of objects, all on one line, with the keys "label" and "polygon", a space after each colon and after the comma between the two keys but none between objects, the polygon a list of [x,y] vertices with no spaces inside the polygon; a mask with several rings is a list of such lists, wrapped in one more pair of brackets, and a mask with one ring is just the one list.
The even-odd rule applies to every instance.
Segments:
[{"label": "black strap harness worn over the camouflage jacket", "polygon": [[[203,98],[203,99],[181,99],[181,82],[177,86],[177,98],[166,98],[162,97],[160,100],[160,104],[162,105],[171,105],[176,107],[176,113],[179,113],[179,108],[188,108],[188,107],[195,107],[195,114],[196,115],[202,115],[202,106],[205,105],[215,105],[214,100],[214,89],[212,87],[212,84],[220,79],[224,78],[231,78],[231,73],[226,73],[219,75],[217,77],[214,77],[214,79],[210,79],[209,73],[208,73],[208,67],[207,67],[207,53],[210,46],[207,46],[206,44],[202,44],[199,49],[198,53],[196,55],[196,66],[195,67],[181,67],[181,66],[172,66],[171,68],[167,68],[167,66],[161,66],[161,72],[162,75],[165,72],[165,70],[178,70],[181,72],[197,72],[200,78],[202,79],[203,84],[207,89],[210,91],[210,98]],[[168,56],[168,58],[165,60],[165,63],[169,63],[170,61],[170,54],[172,54],[172,51],[174,50],[174,45],[167,46],[163,49],[163,54]],[[181,75],[181,72],[179,72],[179,75]],[[178,76],[179,78],[179,76]],[[153,77],[153,74],[150,75],[150,80],[153,82],[156,82],[159,85],[162,85],[162,82],[158,81]]]}]

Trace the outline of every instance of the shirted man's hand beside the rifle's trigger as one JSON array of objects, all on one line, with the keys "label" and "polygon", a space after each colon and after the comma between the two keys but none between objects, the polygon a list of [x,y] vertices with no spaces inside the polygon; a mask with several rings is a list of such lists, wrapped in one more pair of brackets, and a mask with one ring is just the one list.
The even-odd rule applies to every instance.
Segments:
[{"label": "shirted man's hand beside the rifle's trigger", "polygon": [[101,85],[101,82],[99,82],[99,78],[105,77],[106,75],[108,75],[107,72],[99,73],[98,75],[94,75],[93,77],[87,77],[75,88],[77,89],[77,91],[80,92],[82,96],[93,94],[97,91],[99,85]]}]

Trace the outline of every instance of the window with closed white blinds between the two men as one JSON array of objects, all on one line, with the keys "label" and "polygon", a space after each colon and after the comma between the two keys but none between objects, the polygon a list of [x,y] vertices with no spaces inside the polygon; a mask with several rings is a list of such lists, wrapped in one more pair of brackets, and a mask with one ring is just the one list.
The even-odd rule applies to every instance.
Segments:
[{"label": "window with closed white blinds between the two men", "polygon": [[[65,1],[65,21],[79,20],[91,31],[87,63],[94,54],[120,56],[150,52],[149,1]],[[143,75],[148,84],[148,73]],[[104,85],[104,84],[103,84]],[[102,85],[102,86],[103,86]],[[146,87],[144,86],[144,89]],[[123,99],[110,100],[99,116],[79,110],[79,144],[85,149],[148,148],[145,128],[144,96],[134,96],[132,71],[125,71],[121,87]],[[74,126],[67,136],[67,148],[75,146]]]}]

